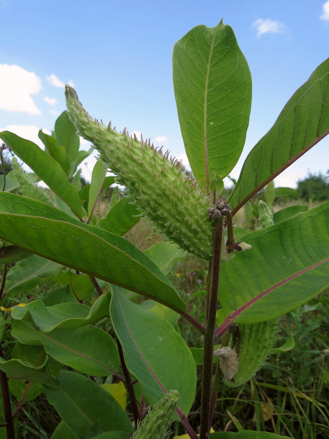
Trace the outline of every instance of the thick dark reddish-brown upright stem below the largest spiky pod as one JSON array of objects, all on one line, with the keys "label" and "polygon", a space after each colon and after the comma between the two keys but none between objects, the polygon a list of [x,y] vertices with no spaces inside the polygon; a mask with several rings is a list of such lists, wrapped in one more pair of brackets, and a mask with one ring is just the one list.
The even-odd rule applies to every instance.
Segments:
[{"label": "thick dark reddish-brown upright stem below the largest spiky pod", "polygon": [[214,225],[214,255],[211,270],[211,288],[209,294],[207,327],[204,334],[204,356],[202,368],[202,389],[201,389],[201,420],[200,439],[209,437],[209,417],[211,398],[211,377],[212,361],[214,352],[214,331],[216,324],[217,296],[219,283],[219,268],[221,260],[222,235],[224,217],[215,219]]}]

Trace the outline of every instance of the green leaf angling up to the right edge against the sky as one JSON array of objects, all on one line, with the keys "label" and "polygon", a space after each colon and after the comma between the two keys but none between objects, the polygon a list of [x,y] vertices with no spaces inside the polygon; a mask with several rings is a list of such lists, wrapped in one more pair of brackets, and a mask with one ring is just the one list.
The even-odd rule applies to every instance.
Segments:
[{"label": "green leaf angling up to the right edge against the sky", "polygon": [[254,194],[329,134],[329,58],[287,102],[250,151],[229,197],[235,214]]}]

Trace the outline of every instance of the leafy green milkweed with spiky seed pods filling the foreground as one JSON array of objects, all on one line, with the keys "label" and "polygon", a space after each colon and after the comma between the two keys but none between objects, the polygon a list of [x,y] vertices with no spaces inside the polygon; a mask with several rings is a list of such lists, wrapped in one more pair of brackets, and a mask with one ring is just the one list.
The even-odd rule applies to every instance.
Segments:
[{"label": "leafy green milkweed with spiky seed pods filling the foreground", "polygon": [[[0,133],[1,157],[7,146],[33,171],[13,159],[0,192],[0,297],[20,305],[1,308],[1,341],[6,328],[14,345],[11,358],[0,349],[1,427],[8,439],[18,435],[21,404],[42,392],[62,419],[52,439],[161,439],[172,421],[197,439],[189,422],[197,361],[179,319],[203,337],[200,439],[224,439],[226,432],[211,430],[220,387],[250,380],[271,355],[279,317],[329,286],[329,202],[277,220],[270,196],[250,204],[263,188],[273,192],[273,179],[329,133],[329,59],[250,151],[228,199],[223,178],[240,157],[250,115],[247,61],[222,21],[191,29],[175,43],[172,61],[190,173],[150,140],[93,119],[68,85],[67,112],[51,135],[39,132],[44,151]],[[79,136],[93,149],[79,150]],[[82,187],[78,167],[91,151],[98,161]],[[114,181],[126,188],[124,197],[113,196],[99,218],[97,200]],[[236,239],[241,208],[252,212],[256,227]],[[144,252],[132,245],[122,235],[140,218],[171,244]],[[204,321],[190,314],[167,277],[184,252],[208,264]],[[28,291],[47,280],[56,288],[29,301]],[[23,296],[26,303],[19,303]],[[153,410],[144,417],[146,403]],[[277,433],[230,434],[274,439]]]}]

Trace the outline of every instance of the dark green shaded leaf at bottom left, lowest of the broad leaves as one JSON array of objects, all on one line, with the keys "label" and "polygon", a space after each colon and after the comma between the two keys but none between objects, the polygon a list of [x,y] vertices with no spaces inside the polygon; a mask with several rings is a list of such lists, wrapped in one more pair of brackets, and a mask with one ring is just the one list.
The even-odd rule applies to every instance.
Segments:
[{"label": "dark green shaded leaf at bottom left, lowest of the broad leaves", "polygon": [[118,430],[129,436],[131,422],[110,393],[75,372],[63,371],[58,379],[61,389],[47,390],[47,399],[79,439],[85,439],[95,424],[103,432]]}]

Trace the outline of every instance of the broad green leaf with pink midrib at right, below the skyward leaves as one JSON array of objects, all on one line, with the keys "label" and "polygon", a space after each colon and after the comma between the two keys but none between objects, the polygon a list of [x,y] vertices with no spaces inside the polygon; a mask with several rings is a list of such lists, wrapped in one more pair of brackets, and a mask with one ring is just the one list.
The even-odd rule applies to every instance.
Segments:
[{"label": "broad green leaf with pink midrib at right, below the skyward leaves", "polygon": [[232,323],[282,316],[329,286],[329,202],[246,235],[253,248],[222,264],[218,300]]}]

